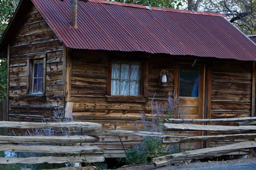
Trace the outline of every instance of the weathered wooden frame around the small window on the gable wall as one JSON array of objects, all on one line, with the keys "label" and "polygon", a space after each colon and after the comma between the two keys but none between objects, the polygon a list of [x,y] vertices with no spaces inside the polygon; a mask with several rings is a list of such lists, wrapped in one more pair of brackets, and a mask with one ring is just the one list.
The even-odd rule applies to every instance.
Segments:
[{"label": "weathered wooden frame around the small window on the gable wall", "polygon": [[[42,62],[43,63],[43,85],[42,93],[33,93],[34,85],[34,63]],[[28,95],[43,95],[45,94],[46,89],[46,54],[39,56],[28,56],[27,60],[28,72],[27,72],[27,94]]]}]

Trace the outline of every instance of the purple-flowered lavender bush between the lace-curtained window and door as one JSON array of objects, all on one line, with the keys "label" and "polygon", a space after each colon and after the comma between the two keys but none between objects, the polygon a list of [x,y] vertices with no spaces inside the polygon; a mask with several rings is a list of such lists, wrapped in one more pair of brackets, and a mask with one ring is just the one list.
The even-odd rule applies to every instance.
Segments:
[{"label": "purple-flowered lavender bush between the lace-curtained window and door", "polygon": [[[147,132],[164,132],[164,119],[184,119],[189,113],[189,108],[183,111],[181,107],[178,107],[179,99],[175,92],[173,97],[169,94],[167,102],[164,104],[159,104],[157,101],[154,101],[155,95],[148,104],[151,108],[151,116],[148,117],[144,111],[140,111],[143,128],[137,125],[136,122],[134,126],[138,131],[142,129]],[[181,144],[180,146],[184,147],[185,145]],[[143,137],[142,142],[134,142],[133,148],[128,150],[126,154],[125,161],[128,164],[147,163],[151,161],[151,157],[177,153],[180,146],[178,144],[163,145],[159,137]]]}]

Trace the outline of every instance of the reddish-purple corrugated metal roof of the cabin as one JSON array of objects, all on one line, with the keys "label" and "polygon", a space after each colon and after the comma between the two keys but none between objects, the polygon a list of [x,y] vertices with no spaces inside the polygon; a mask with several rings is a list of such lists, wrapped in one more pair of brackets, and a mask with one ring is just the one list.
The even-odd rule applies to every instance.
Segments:
[{"label": "reddish-purple corrugated metal roof of the cabin", "polygon": [[69,0],[32,2],[70,48],[256,60],[256,45],[223,14],[78,0],[70,28]]}]

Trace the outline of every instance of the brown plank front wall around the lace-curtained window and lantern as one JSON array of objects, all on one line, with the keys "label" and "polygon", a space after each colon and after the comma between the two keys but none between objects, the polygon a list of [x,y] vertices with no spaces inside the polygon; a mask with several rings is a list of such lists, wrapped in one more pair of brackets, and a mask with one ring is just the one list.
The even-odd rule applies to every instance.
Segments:
[{"label": "brown plank front wall around the lace-curtained window and lantern", "polygon": [[[72,51],[71,70],[71,102],[73,102],[73,113],[76,113],[76,121],[97,122],[102,129],[114,130],[136,130],[133,125],[141,126],[140,110],[149,115],[151,109],[148,102],[154,94],[158,103],[166,102],[169,93],[173,95],[174,64],[172,59],[161,59],[151,57],[148,64],[148,102],[107,102],[107,77],[108,77],[108,55],[107,52],[97,51]],[[168,70],[170,79],[168,87],[159,85],[160,71]],[[138,138],[138,137],[137,137]],[[122,137],[125,147],[131,147],[134,137]],[[100,143],[107,153],[123,153],[122,145],[118,137],[102,136]],[[96,144],[93,144],[96,145]],[[110,147],[111,146],[111,147]],[[108,155],[107,155],[108,156]],[[111,154],[113,156],[113,154]]]}]

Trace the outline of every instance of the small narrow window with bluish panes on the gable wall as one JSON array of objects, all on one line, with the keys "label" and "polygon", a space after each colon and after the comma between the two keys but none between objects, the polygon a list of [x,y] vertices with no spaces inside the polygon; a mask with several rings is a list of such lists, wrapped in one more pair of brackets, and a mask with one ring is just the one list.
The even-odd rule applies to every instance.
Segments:
[{"label": "small narrow window with bluish panes on the gable wall", "polygon": [[46,58],[28,59],[27,94],[45,93]]}]

